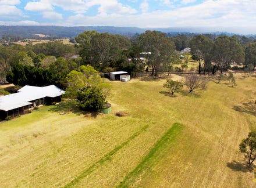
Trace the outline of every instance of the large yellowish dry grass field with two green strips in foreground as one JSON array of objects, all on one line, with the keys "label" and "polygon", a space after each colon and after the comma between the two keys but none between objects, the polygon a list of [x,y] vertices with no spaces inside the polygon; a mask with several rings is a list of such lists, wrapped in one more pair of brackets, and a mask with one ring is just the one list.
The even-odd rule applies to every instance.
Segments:
[{"label": "large yellowish dry grass field with two green strips in foreground", "polygon": [[63,103],[0,122],[0,187],[253,187],[239,143],[256,125],[256,78],[235,76],[176,97],[165,79],[116,81],[112,114]]}]

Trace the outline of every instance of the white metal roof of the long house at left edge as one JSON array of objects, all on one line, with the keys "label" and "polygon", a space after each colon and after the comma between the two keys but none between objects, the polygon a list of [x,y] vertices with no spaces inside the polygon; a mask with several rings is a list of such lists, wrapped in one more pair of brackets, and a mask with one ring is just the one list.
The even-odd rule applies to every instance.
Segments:
[{"label": "white metal roof of the long house at left edge", "polygon": [[41,99],[43,97],[56,97],[64,94],[65,91],[55,85],[37,87],[26,85],[18,90],[18,93],[0,97],[0,110],[8,111],[31,104],[30,101]]}]

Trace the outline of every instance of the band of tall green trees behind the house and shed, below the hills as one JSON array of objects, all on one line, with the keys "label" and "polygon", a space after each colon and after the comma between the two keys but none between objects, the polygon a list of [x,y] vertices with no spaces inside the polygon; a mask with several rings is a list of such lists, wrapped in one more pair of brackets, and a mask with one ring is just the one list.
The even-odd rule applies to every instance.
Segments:
[{"label": "band of tall green trees behind the house and shed, below the hills", "polygon": [[[179,71],[174,65],[181,63],[179,51],[186,47],[191,48],[192,58],[199,62],[199,74],[222,73],[234,62],[243,65],[244,70],[255,70],[256,65],[256,41],[244,37],[189,38],[183,34],[169,37],[163,32],[145,31],[129,39],[118,34],[84,31],[75,39],[75,45],[52,41],[0,46],[1,81],[7,78],[18,85],[52,83],[65,88],[67,74],[79,70],[81,65],[93,66],[99,73],[123,70],[135,76],[151,71],[151,75],[158,77],[163,72]],[[40,76],[37,78],[35,74]]]}]

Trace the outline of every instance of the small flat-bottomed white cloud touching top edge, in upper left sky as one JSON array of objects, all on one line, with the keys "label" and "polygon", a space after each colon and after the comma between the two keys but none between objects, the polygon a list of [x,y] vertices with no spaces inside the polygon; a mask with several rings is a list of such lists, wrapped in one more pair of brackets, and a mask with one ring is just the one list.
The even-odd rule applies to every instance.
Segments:
[{"label": "small flat-bottomed white cloud touching top edge, in upper left sky", "polygon": [[53,10],[51,3],[47,0],[28,2],[24,9],[35,12]]}]

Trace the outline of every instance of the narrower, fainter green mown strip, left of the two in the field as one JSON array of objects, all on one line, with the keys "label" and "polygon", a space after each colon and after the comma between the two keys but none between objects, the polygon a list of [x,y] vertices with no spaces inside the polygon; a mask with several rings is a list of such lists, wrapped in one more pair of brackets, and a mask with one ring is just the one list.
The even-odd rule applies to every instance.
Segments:
[{"label": "narrower, fainter green mown strip, left of the two in the field", "polygon": [[123,142],[119,146],[115,147],[115,149],[111,150],[109,153],[105,154],[104,157],[102,157],[97,162],[94,162],[93,165],[91,165],[89,168],[85,169],[83,172],[80,173],[76,178],[74,178],[71,182],[69,182],[65,187],[73,187],[74,185],[77,185],[81,179],[85,178],[87,175],[89,175],[91,172],[95,171],[98,167],[100,167],[105,161],[110,161],[116,152],[118,152],[120,149],[122,149],[124,146],[126,146],[131,140],[136,138],[138,135],[140,135],[142,132],[144,132],[149,125],[143,126],[139,131],[131,135],[126,142]]}]

